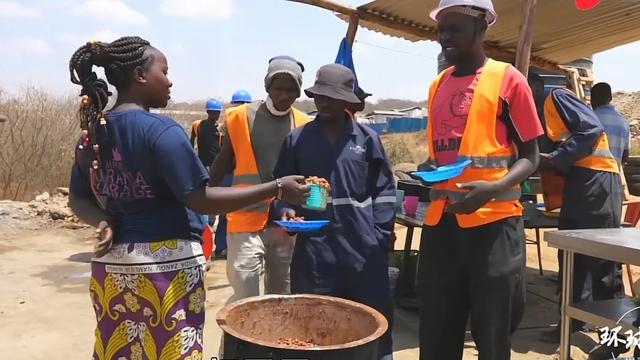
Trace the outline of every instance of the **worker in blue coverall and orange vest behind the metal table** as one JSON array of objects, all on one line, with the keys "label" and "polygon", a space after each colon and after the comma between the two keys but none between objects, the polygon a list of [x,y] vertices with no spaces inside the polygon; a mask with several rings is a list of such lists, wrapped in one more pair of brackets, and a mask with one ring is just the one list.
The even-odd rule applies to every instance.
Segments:
[{"label": "worker in blue coverall and orange vest behind the metal table", "polygon": [[[559,189],[562,207],[558,228],[620,227],[622,182],[618,163],[609,150],[597,115],[569,90],[555,89],[545,96],[544,82],[536,74],[529,76],[529,83],[542,110],[546,137],[551,144],[550,149],[542,149],[540,169],[554,168],[564,175],[564,188]],[[561,256],[559,252],[560,273]],[[624,295],[618,268],[615,262],[576,254],[573,301],[606,300]],[[559,283],[560,279],[559,276]],[[591,289],[585,291],[585,284]],[[574,321],[572,330],[578,331],[582,325]],[[544,333],[543,339],[559,342],[560,326]]]}]

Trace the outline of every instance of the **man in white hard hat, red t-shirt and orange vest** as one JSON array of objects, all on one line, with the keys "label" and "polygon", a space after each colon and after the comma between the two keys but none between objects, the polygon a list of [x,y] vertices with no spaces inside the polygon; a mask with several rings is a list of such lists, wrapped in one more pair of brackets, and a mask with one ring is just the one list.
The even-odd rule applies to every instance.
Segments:
[{"label": "man in white hard hat, red t-shirt and orange vest", "polygon": [[420,359],[462,359],[469,318],[479,358],[509,359],[526,285],[519,184],[538,166],[542,127],[526,79],[484,54],[496,20],[491,1],[442,0],[431,18],[453,66],[431,85],[429,160],[420,168],[472,163],[430,191],[419,260]]}]

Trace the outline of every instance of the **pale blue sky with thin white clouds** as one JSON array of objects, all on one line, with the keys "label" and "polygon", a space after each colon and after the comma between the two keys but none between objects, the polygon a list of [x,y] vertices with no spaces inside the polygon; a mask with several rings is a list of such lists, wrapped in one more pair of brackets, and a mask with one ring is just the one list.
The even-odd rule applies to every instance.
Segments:
[{"label": "pale blue sky with thin white clouds", "polygon": [[[366,0],[342,0],[360,5]],[[425,14],[427,17],[427,14]],[[237,89],[264,98],[268,60],[302,61],[303,86],[335,60],[347,24],[332,13],[285,0],[0,0],[0,89],[39,86],[56,94],[79,91],[68,61],[89,40],[138,35],[169,61],[175,101],[228,101]],[[435,76],[439,46],[360,28],[354,45],[360,85],[372,99],[424,100]],[[640,90],[640,42],[594,57],[597,80],[614,90]]]}]

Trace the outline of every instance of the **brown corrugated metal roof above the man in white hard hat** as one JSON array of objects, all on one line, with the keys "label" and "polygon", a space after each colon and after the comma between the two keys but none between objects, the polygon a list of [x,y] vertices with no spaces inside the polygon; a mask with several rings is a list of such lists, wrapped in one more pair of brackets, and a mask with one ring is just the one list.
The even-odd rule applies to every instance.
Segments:
[{"label": "brown corrugated metal roof above the man in white hard hat", "polygon": [[[435,40],[429,11],[437,4],[436,0],[376,0],[358,7],[360,25],[411,41]],[[486,41],[515,53],[522,2],[494,0],[493,4],[498,21],[489,28]],[[572,0],[538,0],[531,55],[563,64],[636,40],[640,40],[638,0],[603,0],[589,11],[578,10]]]}]

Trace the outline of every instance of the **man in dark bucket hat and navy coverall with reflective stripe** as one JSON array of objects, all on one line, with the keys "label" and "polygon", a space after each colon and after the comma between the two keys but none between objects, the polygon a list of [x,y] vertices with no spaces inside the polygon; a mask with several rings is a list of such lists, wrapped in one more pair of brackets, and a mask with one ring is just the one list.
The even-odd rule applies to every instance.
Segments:
[{"label": "man in dark bucket hat and navy coverall with reflective stripe", "polygon": [[[346,111],[360,99],[354,75],[343,65],[318,70],[305,90],[318,115],[284,142],[274,176],[296,173],[331,184],[324,211],[295,208],[289,217],[331,220],[314,233],[300,233],[291,261],[291,291],[338,296],[369,305],[389,322],[378,359],[392,359],[393,305],[388,252],[395,218],[393,174],[378,135]],[[294,212],[295,210],[295,212]]]}]

